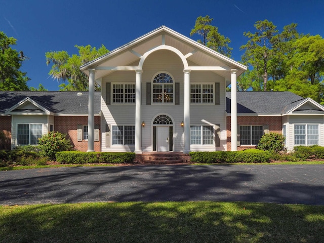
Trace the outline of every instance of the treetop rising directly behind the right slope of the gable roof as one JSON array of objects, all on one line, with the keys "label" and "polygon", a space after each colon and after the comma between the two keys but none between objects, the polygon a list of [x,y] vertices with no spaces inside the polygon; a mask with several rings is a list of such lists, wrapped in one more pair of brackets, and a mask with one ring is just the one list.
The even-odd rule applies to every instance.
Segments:
[{"label": "treetop rising directly behind the right slope of the gable roof", "polygon": [[228,37],[225,37],[218,32],[218,27],[211,25],[212,21],[213,18],[210,18],[208,15],[205,17],[199,16],[196,19],[194,28],[191,29],[190,36],[194,34],[201,35],[203,40],[198,39],[198,43],[230,57],[233,48],[230,48],[228,44],[231,41]]}]

